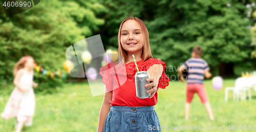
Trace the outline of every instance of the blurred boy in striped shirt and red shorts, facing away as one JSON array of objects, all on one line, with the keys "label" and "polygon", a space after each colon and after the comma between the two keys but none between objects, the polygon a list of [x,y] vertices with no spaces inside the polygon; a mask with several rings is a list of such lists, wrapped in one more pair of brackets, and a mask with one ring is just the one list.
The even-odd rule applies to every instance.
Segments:
[{"label": "blurred boy in striped shirt and red shorts, facing away", "polygon": [[197,93],[201,99],[201,102],[204,103],[205,109],[211,120],[214,120],[214,115],[212,114],[211,107],[205,92],[203,85],[204,76],[206,78],[211,77],[209,72],[209,67],[206,61],[201,57],[203,55],[203,50],[200,46],[196,46],[192,50],[192,58],[188,59],[178,70],[181,74],[181,82],[185,81],[185,78],[182,74],[182,70],[187,70],[187,90],[186,90],[186,104],[185,104],[185,119],[189,117],[190,103],[193,100],[194,94]]}]

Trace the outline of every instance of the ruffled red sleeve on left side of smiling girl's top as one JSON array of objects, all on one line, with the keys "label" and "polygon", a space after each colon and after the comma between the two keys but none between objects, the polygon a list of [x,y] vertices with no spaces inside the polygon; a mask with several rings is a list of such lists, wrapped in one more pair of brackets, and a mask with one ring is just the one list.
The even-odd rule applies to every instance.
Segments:
[{"label": "ruffled red sleeve on left side of smiling girl's top", "polygon": [[106,85],[106,89],[109,91],[113,90],[113,79],[111,74],[109,73],[110,63],[100,68],[100,75],[102,76],[102,82]]}]

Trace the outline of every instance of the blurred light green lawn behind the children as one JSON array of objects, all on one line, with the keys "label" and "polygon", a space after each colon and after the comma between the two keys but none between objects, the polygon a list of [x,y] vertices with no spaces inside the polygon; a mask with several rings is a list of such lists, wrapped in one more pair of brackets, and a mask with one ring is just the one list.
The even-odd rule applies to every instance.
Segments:
[{"label": "blurred light green lawn behind the children", "polygon": [[[194,96],[191,103],[190,119],[184,120],[184,104],[186,84],[180,82],[169,82],[166,89],[159,89],[158,103],[155,111],[158,114],[161,126],[204,126],[225,125],[256,125],[256,96],[252,90],[252,100],[234,101],[232,94],[229,93],[229,100],[224,101],[224,89],[219,91],[211,86],[211,81],[205,81],[205,88],[209,98],[215,121],[208,118],[204,105],[200,102],[198,95]],[[233,86],[234,80],[224,80],[224,88]],[[0,111],[4,110],[10,92],[0,94]],[[103,95],[92,97],[88,83],[70,83],[65,88],[59,89],[52,95],[36,94],[36,111],[31,127],[24,127],[23,131],[96,131],[98,115],[102,103]],[[14,131],[14,119],[6,121],[0,119],[1,131]],[[255,128],[256,129],[256,128]],[[169,131],[169,130],[162,130]],[[184,130],[176,131],[189,131]],[[192,131],[192,130],[191,130]],[[232,131],[232,130],[231,130]],[[253,131],[253,130],[234,130],[234,131]]]}]

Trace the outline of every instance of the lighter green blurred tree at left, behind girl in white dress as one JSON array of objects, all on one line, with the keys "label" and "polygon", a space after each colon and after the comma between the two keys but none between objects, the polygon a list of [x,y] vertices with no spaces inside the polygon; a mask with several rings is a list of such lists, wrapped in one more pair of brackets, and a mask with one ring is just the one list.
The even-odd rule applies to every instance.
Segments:
[{"label": "lighter green blurred tree at left, behind girl in white dress", "polygon": [[[11,82],[15,62],[26,54],[51,72],[61,69],[67,73],[63,69],[66,49],[98,30],[104,20],[96,14],[103,9],[94,1],[46,0],[10,17],[0,10],[0,80]],[[58,77],[36,73],[34,78],[39,82],[38,91],[51,92],[61,84]]]}]

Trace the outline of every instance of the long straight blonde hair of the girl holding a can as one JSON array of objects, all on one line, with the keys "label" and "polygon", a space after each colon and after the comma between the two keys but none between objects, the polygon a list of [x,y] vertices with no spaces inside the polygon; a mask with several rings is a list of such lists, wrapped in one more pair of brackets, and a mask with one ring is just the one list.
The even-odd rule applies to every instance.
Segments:
[{"label": "long straight blonde hair of the girl holding a can", "polygon": [[[127,52],[122,47],[120,37],[121,37],[122,25],[127,20],[136,20],[140,24],[140,27],[142,29],[143,38],[144,38],[143,47],[142,47],[143,49],[142,49],[142,54],[141,54],[141,59],[143,60],[142,63],[150,58],[153,58],[152,53],[151,53],[151,47],[150,47],[150,36],[148,35],[148,31],[147,31],[145,23],[138,17],[130,16],[130,17],[125,18],[122,21],[122,23],[120,24],[120,27],[119,27],[119,31],[118,31],[118,54],[120,54],[123,57],[124,63],[127,61]],[[124,64],[122,64],[123,61],[121,61],[121,60],[122,59],[120,59],[120,56],[119,56],[118,63],[120,66],[124,65]]]}]

